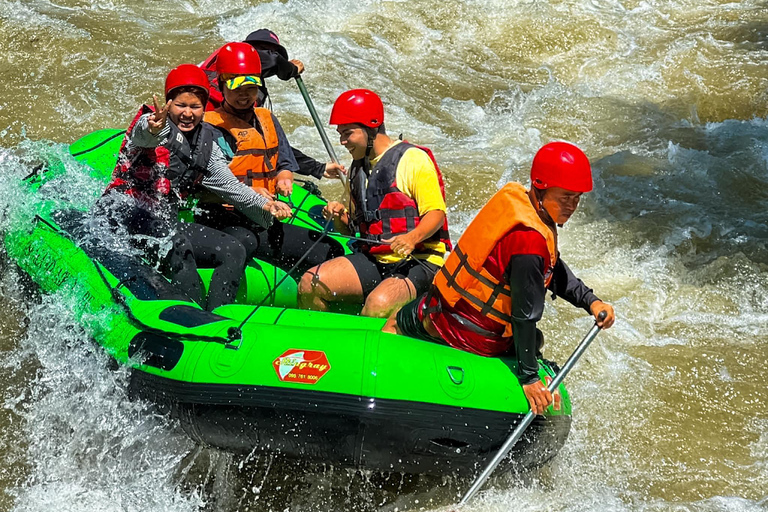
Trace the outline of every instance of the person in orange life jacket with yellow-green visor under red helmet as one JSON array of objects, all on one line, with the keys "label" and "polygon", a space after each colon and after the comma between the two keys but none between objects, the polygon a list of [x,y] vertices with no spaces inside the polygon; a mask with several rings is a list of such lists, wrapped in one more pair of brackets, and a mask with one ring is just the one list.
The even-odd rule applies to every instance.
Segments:
[{"label": "person in orange life jacket with yellow-green visor under red helmet", "polygon": [[[275,194],[289,196],[296,161],[277,119],[267,109],[254,108],[262,83],[258,53],[249,44],[229,43],[219,50],[216,66],[224,103],[206,112],[205,120],[220,131],[220,144],[231,159],[230,169],[243,183],[269,199],[275,198]],[[221,202],[200,202],[198,210],[197,222],[231,232],[245,245],[248,255],[283,268],[302,265],[296,269],[297,276],[344,254],[341,244],[331,238],[318,241],[316,232],[283,223],[265,229]],[[255,237],[242,238],[239,227]]]}]

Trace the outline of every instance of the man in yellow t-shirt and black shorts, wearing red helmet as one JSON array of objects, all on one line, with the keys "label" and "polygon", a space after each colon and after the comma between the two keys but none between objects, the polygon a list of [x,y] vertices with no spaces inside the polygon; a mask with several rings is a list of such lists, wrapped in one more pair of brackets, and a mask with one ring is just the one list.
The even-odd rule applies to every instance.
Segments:
[{"label": "man in yellow t-shirt and black shorts, wearing red helmet", "polygon": [[332,201],[323,213],[368,242],[304,274],[299,306],[362,304],[362,315],[387,317],[428,289],[450,248],[442,175],[431,151],[387,136],[384,105],[369,90],[339,96],[330,122],[354,160],[351,203]]}]

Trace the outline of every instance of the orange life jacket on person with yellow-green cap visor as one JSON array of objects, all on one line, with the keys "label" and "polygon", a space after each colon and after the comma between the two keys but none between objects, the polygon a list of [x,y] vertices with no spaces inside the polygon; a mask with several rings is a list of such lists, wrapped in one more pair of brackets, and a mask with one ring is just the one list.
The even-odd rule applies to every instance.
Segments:
[{"label": "orange life jacket on person with yellow-green cap visor", "polygon": [[232,174],[251,188],[266,188],[275,193],[277,178],[277,130],[272,113],[265,108],[254,108],[256,121],[262,133],[250,123],[217,108],[206,112],[204,120],[228,131],[237,141],[235,156],[229,163]]}]

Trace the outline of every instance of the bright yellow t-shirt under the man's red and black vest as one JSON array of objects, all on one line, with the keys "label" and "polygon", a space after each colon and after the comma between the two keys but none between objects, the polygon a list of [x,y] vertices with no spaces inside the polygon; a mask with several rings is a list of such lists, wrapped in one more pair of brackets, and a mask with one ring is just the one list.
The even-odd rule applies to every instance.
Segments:
[{"label": "bright yellow t-shirt under the man's red and black vest", "polygon": [[[381,160],[381,157],[395,145],[400,144],[400,142],[399,140],[395,141],[384,153],[376,158],[372,158],[371,167],[375,167],[379,160]],[[440,192],[440,182],[437,180],[435,164],[432,163],[432,159],[429,158],[426,152],[419,148],[409,148],[403,153],[403,157],[397,164],[395,181],[397,182],[397,188],[403,194],[416,201],[416,204],[419,206],[419,216],[423,217],[432,210],[446,211],[445,200]],[[447,248],[444,243],[427,241],[424,242],[424,247],[441,255],[427,252],[417,254],[414,252],[413,256],[435,265],[442,265],[445,262]],[[394,253],[376,254],[375,256],[382,263],[397,263],[403,259],[402,256]]]}]

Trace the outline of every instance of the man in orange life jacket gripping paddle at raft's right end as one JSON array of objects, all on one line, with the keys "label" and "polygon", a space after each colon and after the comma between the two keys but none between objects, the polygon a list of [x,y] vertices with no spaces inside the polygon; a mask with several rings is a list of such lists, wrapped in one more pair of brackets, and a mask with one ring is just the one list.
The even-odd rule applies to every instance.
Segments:
[{"label": "man in orange life jacket gripping paddle at raft's right end", "polygon": [[517,377],[540,414],[552,395],[539,380],[541,319],[547,289],[607,329],[613,307],[576,278],[557,249],[557,226],[573,215],[592,190],[586,155],[572,144],[552,142],[536,154],[530,190],[508,183],[470,223],[432,289],[390,317],[385,332],[404,334],[484,356],[513,352]]}]

